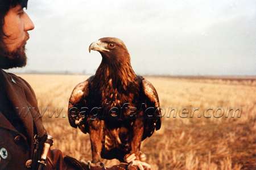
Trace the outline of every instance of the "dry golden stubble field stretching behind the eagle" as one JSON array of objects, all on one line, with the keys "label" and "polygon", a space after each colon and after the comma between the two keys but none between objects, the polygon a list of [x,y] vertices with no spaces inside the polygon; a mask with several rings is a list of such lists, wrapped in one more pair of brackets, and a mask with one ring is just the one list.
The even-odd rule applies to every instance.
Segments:
[{"label": "dry golden stubble field stretching behind the eagle", "polygon": [[[86,76],[20,75],[34,88],[39,107],[64,107],[59,118],[44,114],[44,125],[55,138],[55,148],[77,159],[89,160],[89,136],[69,126],[67,105],[73,87]],[[142,151],[154,169],[256,169],[256,87],[247,80],[148,78],[166,109],[163,126],[146,139]],[[168,108],[179,110],[166,118]],[[200,108],[193,118],[181,118],[181,108]],[[205,109],[240,108],[240,118],[198,118]],[[44,109],[42,109],[42,112]],[[59,109],[60,111],[60,109]],[[114,161],[105,161],[113,164]]]}]

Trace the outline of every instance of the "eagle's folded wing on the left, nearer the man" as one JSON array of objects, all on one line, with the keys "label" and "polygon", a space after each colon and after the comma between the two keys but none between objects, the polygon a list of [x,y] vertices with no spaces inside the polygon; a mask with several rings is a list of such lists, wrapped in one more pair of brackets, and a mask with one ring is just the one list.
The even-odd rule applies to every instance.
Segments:
[{"label": "eagle's folded wing on the left, nearer the man", "polygon": [[77,125],[76,121],[79,121],[82,115],[80,115],[81,108],[86,107],[88,105],[88,96],[89,96],[89,85],[90,85],[90,79],[92,79],[93,76],[91,76],[89,79],[85,80],[84,82],[81,82],[77,84],[77,86],[73,89],[72,94],[69,98],[68,103],[68,121],[69,124],[73,128],[79,128],[84,133],[88,132],[85,128],[85,125]]}]

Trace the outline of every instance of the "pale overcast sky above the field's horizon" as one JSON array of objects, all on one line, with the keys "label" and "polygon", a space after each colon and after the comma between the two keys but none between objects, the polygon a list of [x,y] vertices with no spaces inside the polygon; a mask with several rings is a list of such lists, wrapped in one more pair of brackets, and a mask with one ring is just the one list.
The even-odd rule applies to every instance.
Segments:
[{"label": "pale overcast sky above the field's horizon", "polygon": [[118,37],[138,74],[256,75],[256,1],[28,1],[35,24],[18,71],[93,74],[101,37]]}]

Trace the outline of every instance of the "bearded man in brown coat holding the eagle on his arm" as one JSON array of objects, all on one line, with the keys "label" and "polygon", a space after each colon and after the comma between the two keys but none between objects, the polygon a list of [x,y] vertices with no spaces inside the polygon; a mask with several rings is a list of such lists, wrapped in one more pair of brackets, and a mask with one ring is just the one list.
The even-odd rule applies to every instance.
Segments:
[{"label": "bearded man in brown coat holding the eagle on his arm", "polygon": [[[2,70],[26,66],[25,45],[34,24],[23,8],[27,8],[27,0],[0,1],[0,170],[32,169],[38,164],[34,137],[43,139],[47,134],[30,84]],[[43,143],[39,142],[42,149],[40,145]],[[107,169],[121,167],[126,169],[125,165]],[[44,169],[89,169],[89,165],[49,150]]]}]

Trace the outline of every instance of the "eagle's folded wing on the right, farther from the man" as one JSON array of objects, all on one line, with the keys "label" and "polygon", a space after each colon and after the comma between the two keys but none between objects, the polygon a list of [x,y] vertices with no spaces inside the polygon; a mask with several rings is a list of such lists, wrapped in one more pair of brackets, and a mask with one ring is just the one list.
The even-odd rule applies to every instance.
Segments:
[{"label": "eagle's folded wing on the right, farther from the man", "polygon": [[[161,109],[155,87],[146,79],[142,80],[142,94],[146,104],[143,140],[151,137],[155,130],[161,128]],[[150,109],[151,108],[151,109]]]}]

